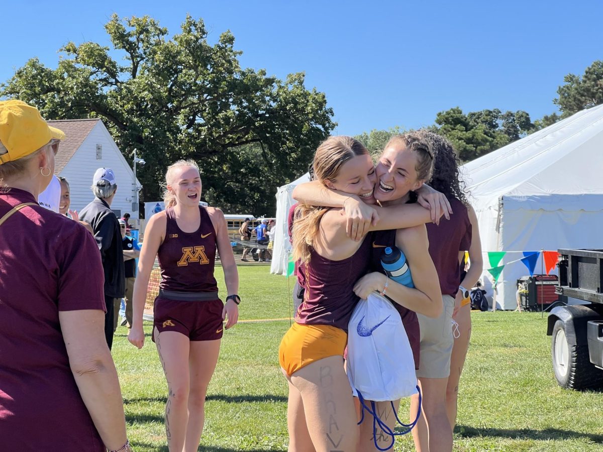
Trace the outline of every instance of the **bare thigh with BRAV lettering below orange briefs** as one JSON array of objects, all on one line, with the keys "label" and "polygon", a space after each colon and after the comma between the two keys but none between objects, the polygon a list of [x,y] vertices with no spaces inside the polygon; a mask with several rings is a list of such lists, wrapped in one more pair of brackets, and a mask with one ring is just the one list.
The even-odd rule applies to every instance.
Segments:
[{"label": "bare thigh with BRAV lettering below orange briefs", "polygon": [[306,425],[317,452],[355,452],[356,410],[343,357],[315,361],[291,375],[289,381],[301,394]]}]

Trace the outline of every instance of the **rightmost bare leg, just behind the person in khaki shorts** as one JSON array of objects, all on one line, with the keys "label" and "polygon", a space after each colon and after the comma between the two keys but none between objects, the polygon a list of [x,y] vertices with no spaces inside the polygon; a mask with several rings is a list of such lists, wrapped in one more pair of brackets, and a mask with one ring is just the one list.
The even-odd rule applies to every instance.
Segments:
[{"label": "rightmost bare leg, just behind the person in khaki shorts", "polygon": [[461,307],[455,318],[461,336],[454,340],[452,356],[450,357],[450,377],[446,387],[446,412],[450,421],[450,428],[454,431],[456,425],[456,404],[458,399],[458,384],[461,380],[461,372],[465,365],[469,339],[471,337],[471,305]]}]

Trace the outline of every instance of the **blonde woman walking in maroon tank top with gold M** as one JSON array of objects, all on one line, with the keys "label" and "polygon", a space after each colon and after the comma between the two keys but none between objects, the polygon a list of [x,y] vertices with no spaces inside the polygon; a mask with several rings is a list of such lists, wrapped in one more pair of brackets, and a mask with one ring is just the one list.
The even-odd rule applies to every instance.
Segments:
[{"label": "blonde woman walking in maroon tank top with gold M", "polygon": [[[203,433],[207,385],[218,362],[223,330],[238,321],[239,275],[224,214],[199,206],[197,164],[192,160],[174,163],[165,181],[166,210],[153,215],[145,230],[128,340],[138,348],[144,345],[142,312],[157,256],[162,281],[154,303],[152,337],[168,380],[168,447],[171,452],[192,452]],[[216,248],[228,290],[226,306],[218,298],[213,276]]]}]

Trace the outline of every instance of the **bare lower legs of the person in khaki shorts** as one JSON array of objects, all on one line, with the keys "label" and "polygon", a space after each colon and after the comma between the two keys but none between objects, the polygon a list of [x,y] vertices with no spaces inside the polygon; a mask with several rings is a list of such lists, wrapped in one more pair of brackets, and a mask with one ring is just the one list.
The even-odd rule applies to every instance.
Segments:
[{"label": "bare lower legs of the person in khaki shorts", "polygon": [[[448,378],[419,378],[426,424],[417,422],[417,426],[412,430],[412,438],[415,439],[417,451],[452,451],[452,428],[450,428],[446,413],[447,381]],[[418,396],[412,397],[412,405],[417,406]],[[416,411],[414,413],[416,414]],[[428,445],[425,443],[425,433],[427,433]]]}]

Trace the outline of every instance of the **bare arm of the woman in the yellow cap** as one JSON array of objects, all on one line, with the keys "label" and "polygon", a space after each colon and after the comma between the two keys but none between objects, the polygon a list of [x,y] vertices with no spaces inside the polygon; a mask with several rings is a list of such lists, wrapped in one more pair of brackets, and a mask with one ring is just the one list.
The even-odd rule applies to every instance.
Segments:
[{"label": "bare arm of the woman in the yellow cap", "polygon": [[75,383],[104,445],[125,444],[124,404],[101,310],[59,311],[58,319]]}]

